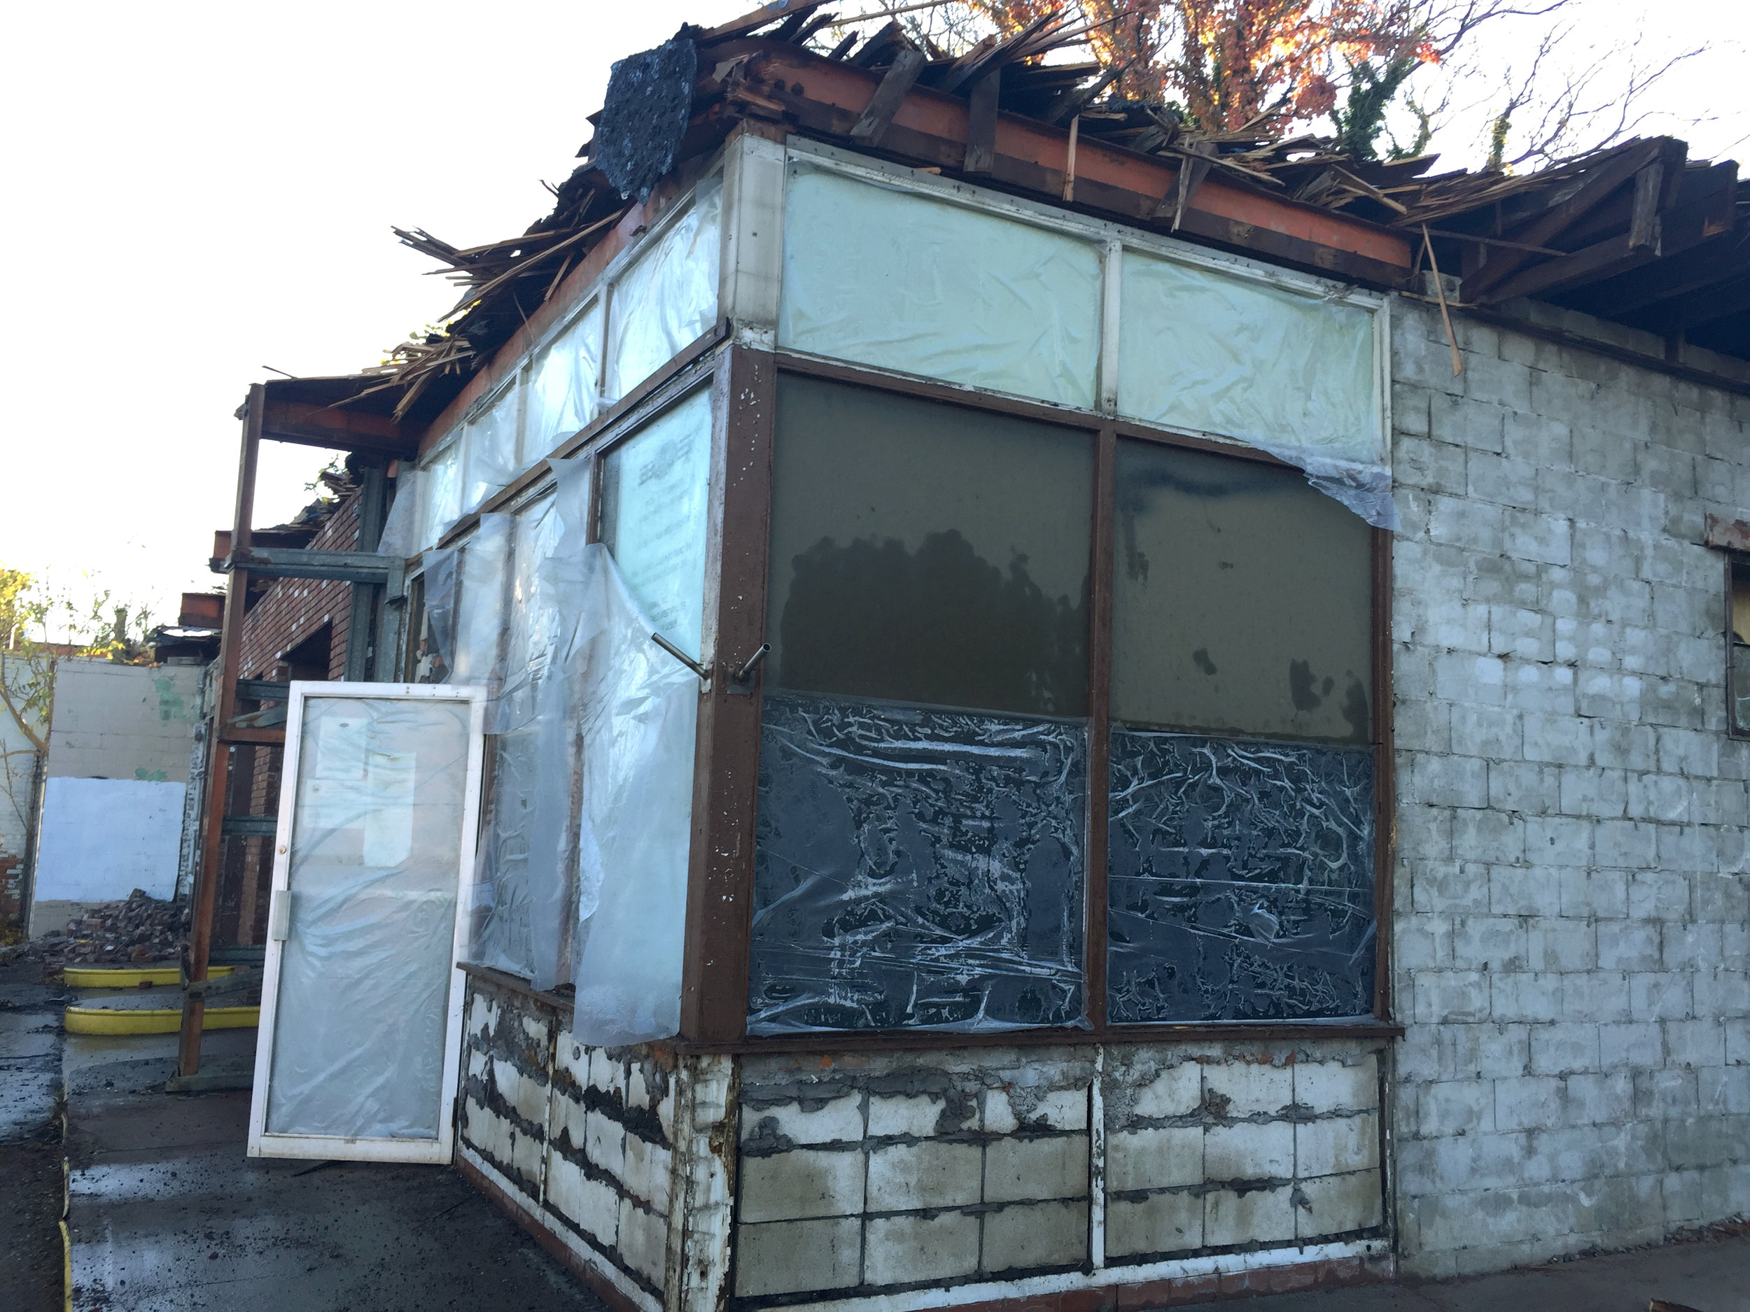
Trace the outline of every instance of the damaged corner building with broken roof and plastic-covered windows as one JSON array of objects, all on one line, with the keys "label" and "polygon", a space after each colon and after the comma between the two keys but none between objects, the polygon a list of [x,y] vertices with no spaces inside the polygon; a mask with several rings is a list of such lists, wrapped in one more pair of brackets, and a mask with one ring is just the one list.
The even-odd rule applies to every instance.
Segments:
[{"label": "damaged corner building with broken roof and plastic-covered windows", "polygon": [[[184,1076],[262,936],[252,1153],[453,1162],[646,1312],[1750,1212],[1736,164],[1195,136],[1048,21],[816,10],[625,59],[551,215],[402,234],[446,332],[250,390],[231,595],[348,621],[226,614],[287,785],[214,754]],[[256,541],[261,441],[373,492]]]}]

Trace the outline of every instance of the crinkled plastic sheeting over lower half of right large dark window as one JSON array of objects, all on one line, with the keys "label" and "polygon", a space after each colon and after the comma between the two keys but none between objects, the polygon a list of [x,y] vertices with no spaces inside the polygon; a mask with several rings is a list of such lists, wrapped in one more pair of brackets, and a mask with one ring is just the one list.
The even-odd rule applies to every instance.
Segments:
[{"label": "crinkled plastic sheeting over lower half of right large dark window", "polygon": [[1111,731],[1113,1023],[1374,1006],[1374,756]]}]

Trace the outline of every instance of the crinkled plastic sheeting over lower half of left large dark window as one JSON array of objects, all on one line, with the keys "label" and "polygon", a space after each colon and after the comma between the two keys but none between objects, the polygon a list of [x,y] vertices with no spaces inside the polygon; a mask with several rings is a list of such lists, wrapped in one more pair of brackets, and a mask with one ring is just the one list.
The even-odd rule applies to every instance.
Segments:
[{"label": "crinkled plastic sheeting over lower half of left large dark window", "polygon": [[751,1034],[1083,1015],[1087,729],[766,693]]}]

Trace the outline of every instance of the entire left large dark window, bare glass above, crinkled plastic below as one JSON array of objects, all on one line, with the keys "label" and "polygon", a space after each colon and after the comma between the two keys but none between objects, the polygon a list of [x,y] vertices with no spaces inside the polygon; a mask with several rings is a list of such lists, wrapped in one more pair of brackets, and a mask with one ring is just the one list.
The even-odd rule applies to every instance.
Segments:
[{"label": "entire left large dark window, bare glass above, crinkled plastic below", "polygon": [[749,1030],[1082,1018],[1090,436],[779,380]]}]

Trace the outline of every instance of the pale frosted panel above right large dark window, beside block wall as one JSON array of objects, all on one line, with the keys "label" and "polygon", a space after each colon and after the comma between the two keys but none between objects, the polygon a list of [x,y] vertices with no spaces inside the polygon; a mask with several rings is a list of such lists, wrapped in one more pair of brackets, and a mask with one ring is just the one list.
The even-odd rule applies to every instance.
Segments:
[{"label": "pale frosted panel above right large dark window, beside block wall", "polygon": [[1124,252],[1118,413],[1377,464],[1374,315]]}]

